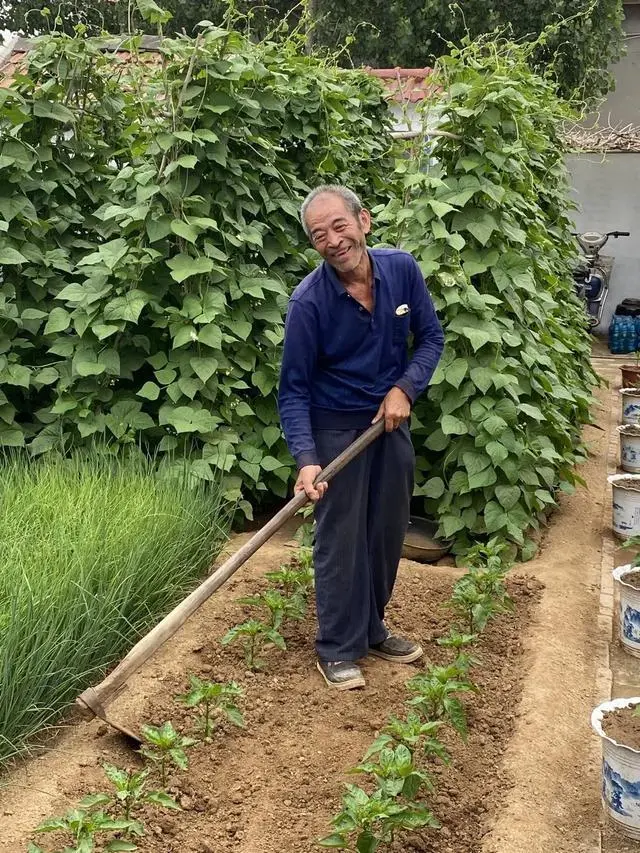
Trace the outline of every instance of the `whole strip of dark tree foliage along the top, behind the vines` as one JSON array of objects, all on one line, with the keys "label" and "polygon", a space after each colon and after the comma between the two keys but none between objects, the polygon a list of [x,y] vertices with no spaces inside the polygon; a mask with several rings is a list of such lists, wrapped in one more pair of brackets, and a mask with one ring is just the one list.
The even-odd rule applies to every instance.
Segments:
[{"label": "whole strip of dark tree foliage along the top, behind the vines", "polygon": [[[160,5],[169,13],[158,18],[167,34],[193,35],[200,21],[220,23],[230,12],[253,38],[264,37],[285,18],[296,26],[304,9],[300,0],[162,0]],[[54,6],[57,19],[49,15],[44,22],[41,10],[51,6],[46,0],[5,0],[0,28],[33,34],[55,27],[72,34],[74,25],[82,23],[92,35],[132,32],[138,26],[151,33],[157,29],[156,20],[145,21],[140,14],[156,6],[154,0],[63,0]],[[471,0],[464,6],[445,0],[312,0],[307,11],[315,22],[309,31],[314,47],[332,50],[348,44],[345,62],[376,68],[432,65],[465,36],[476,38],[496,28],[519,41],[535,40],[552,26],[532,54],[532,67],[551,71],[565,97],[587,101],[611,88],[609,68],[623,46],[622,0],[494,0],[490,5]]]}]

